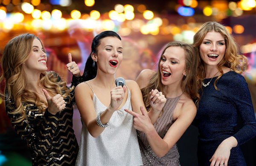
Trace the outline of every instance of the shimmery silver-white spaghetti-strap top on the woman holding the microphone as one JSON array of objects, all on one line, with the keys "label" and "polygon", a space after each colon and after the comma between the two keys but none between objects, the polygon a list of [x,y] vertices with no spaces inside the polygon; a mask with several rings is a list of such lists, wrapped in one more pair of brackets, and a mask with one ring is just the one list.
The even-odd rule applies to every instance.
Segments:
[{"label": "shimmery silver-white spaghetti-strap top on the woman holding the microphone", "polygon": [[[90,86],[90,85],[89,85]],[[93,104],[98,114],[107,107],[93,93]],[[93,138],[82,121],[81,139],[76,166],[140,166],[143,165],[133,116],[124,109],[131,110],[131,92],[124,106],[116,110],[109,125]]]}]

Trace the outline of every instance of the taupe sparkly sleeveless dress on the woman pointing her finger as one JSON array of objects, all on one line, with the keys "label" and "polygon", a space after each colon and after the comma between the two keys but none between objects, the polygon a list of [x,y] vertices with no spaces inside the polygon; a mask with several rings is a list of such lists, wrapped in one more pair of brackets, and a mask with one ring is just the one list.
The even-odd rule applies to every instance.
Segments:
[{"label": "taupe sparkly sleeveless dress on the woman pointing her finger", "polygon": [[[179,99],[180,96],[176,98],[167,98],[166,104],[163,107],[163,115],[158,118],[157,122],[154,124],[154,127],[161,138],[164,138],[166,132],[173,124],[172,115]],[[137,135],[144,166],[180,166],[180,155],[176,143],[166,155],[159,158],[151,149],[145,133],[137,130]]]}]

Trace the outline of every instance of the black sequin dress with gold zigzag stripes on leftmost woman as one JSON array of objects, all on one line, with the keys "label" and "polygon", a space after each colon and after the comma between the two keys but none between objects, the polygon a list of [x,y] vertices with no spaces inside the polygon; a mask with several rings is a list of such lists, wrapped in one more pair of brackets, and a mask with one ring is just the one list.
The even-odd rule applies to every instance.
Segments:
[{"label": "black sequin dress with gold zigzag stripes on leftmost woman", "polygon": [[[55,74],[57,82],[61,78]],[[71,85],[80,83],[81,78],[73,76]],[[7,95],[7,94],[6,94]],[[74,95],[74,90],[71,96]],[[11,99],[5,101],[6,113],[13,127],[26,141],[31,151],[32,164],[35,166],[73,166],[78,154],[78,143],[73,130],[73,104],[75,99],[65,98],[66,106],[56,115],[46,111],[38,112],[34,103],[26,105],[27,118],[19,123],[13,123],[20,114],[11,114],[15,110],[15,104]]]}]

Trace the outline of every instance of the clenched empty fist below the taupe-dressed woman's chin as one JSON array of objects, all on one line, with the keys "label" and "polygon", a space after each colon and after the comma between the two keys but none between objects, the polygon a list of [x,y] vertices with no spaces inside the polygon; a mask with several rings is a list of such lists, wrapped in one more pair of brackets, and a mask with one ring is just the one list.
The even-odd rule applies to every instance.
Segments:
[{"label": "clenched empty fist below the taupe-dressed woman's chin", "polygon": [[166,98],[162,92],[158,92],[157,89],[151,90],[149,93],[150,105],[154,110],[161,111],[166,104]]}]

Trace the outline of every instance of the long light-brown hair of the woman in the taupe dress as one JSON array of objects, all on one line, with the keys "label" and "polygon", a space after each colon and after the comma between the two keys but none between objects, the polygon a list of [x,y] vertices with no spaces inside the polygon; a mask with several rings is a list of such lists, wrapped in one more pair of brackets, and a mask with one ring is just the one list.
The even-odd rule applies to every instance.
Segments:
[{"label": "long light-brown hair of the woman in the taupe dress", "polygon": [[[158,91],[162,92],[166,96],[166,94],[163,92],[164,85],[162,84],[162,81],[161,81],[162,78],[161,78],[159,65],[163,57],[163,53],[169,47],[180,47],[180,48],[183,48],[185,51],[186,76],[183,77],[183,80],[181,82],[181,89],[183,90],[184,94],[186,94],[187,96],[193,99],[197,99],[200,97],[199,94],[197,93],[198,87],[197,87],[197,81],[195,76],[195,73],[198,67],[198,60],[196,59],[196,56],[194,56],[195,51],[192,45],[189,45],[185,42],[180,42],[180,41],[169,42],[162,50],[160,59],[158,61],[158,70],[151,77],[151,79],[148,82],[148,85],[141,89],[141,92],[143,95],[143,102],[145,104],[147,111],[151,109],[150,101],[149,101],[149,97],[150,97],[149,93],[152,89],[157,89]],[[163,114],[163,110],[162,110],[162,114]]]}]

